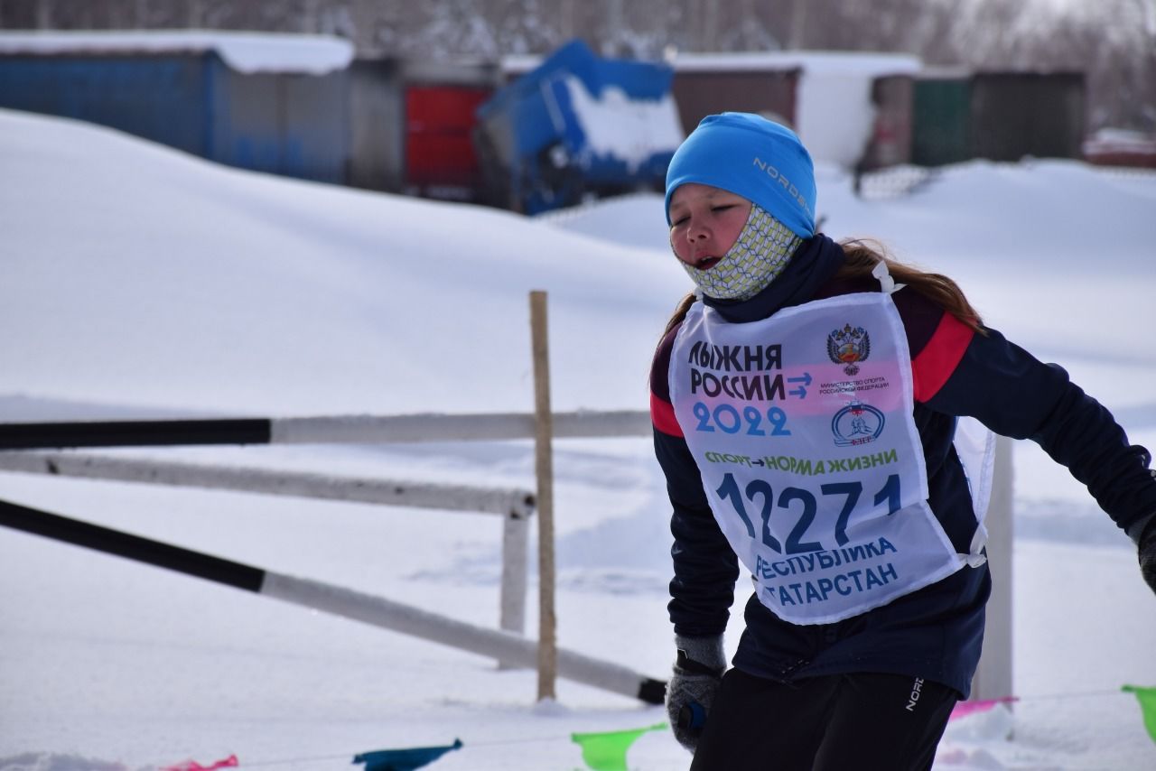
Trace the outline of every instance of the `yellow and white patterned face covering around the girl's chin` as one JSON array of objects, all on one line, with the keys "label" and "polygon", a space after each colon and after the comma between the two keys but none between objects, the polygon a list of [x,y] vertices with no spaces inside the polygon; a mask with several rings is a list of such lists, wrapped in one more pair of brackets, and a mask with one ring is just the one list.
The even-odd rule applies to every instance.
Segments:
[{"label": "yellow and white patterned face covering around the girl's chin", "polygon": [[679,264],[714,299],[750,299],[783,273],[787,260],[802,243],[786,225],[758,208],[750,207],[747,224],[714,267],[699,270],[682,260]]}]

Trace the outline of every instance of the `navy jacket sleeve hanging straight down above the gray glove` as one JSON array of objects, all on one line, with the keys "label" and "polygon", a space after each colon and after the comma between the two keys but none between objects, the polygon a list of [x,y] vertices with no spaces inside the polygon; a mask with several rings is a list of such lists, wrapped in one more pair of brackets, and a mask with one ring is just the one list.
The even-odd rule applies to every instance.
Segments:
[{"label": "navy jacket sleeve hanging straight down above the gray glove", "polygon": [[734,602],[739,561],[706,503],[698,466],[674,417],[667,376],[676,332],[677,328],[662,340],[654,357],[651,420],[654,424],[654,454],[666,475],[673,510],[670,621],[676,635],[704,637],[721,635],[726,629]]}]

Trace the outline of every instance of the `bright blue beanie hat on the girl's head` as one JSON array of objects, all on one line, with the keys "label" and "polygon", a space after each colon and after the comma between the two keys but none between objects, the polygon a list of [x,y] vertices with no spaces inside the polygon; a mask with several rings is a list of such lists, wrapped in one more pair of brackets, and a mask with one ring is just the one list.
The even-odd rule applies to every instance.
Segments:
[{"label": "bright blue beanie hat on the girl's head", "polygon": [[698,183],[742,195],[798,236],[815,235],[815,168],[786,126],[749,112],[706,116],[679,147],[666,170],[666,222],[670,194]]}]

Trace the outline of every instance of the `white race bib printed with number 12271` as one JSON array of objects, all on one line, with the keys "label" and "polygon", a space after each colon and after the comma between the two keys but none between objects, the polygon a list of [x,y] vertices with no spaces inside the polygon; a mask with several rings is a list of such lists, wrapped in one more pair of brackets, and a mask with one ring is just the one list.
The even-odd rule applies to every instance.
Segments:
[{"label": "white race bib printed with number 12271", "polygon": [[927,505],[911,357],[888,294],[747,324],[696,303],[670,396],[711,510],[781,618],[840,621],[975,564]]}]

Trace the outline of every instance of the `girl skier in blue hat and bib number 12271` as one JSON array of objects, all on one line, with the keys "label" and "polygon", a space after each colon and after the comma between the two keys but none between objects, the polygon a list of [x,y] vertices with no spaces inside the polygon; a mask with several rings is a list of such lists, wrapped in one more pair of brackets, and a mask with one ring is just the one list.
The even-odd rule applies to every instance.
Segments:
[{"label": "girl skier in blue hat and bib number 12271", "polygon": [[[988,429],[1087,484],[1156,591],[1149,452],[950,279],[816,233],[815,200],[808,151],[755,114],[709,116],[667,172],[697,289],[651,412],[673,506],[667,710],[696,770],[932,766],[979,660]],[[727,669],[740,562],[754,594]]]}]

